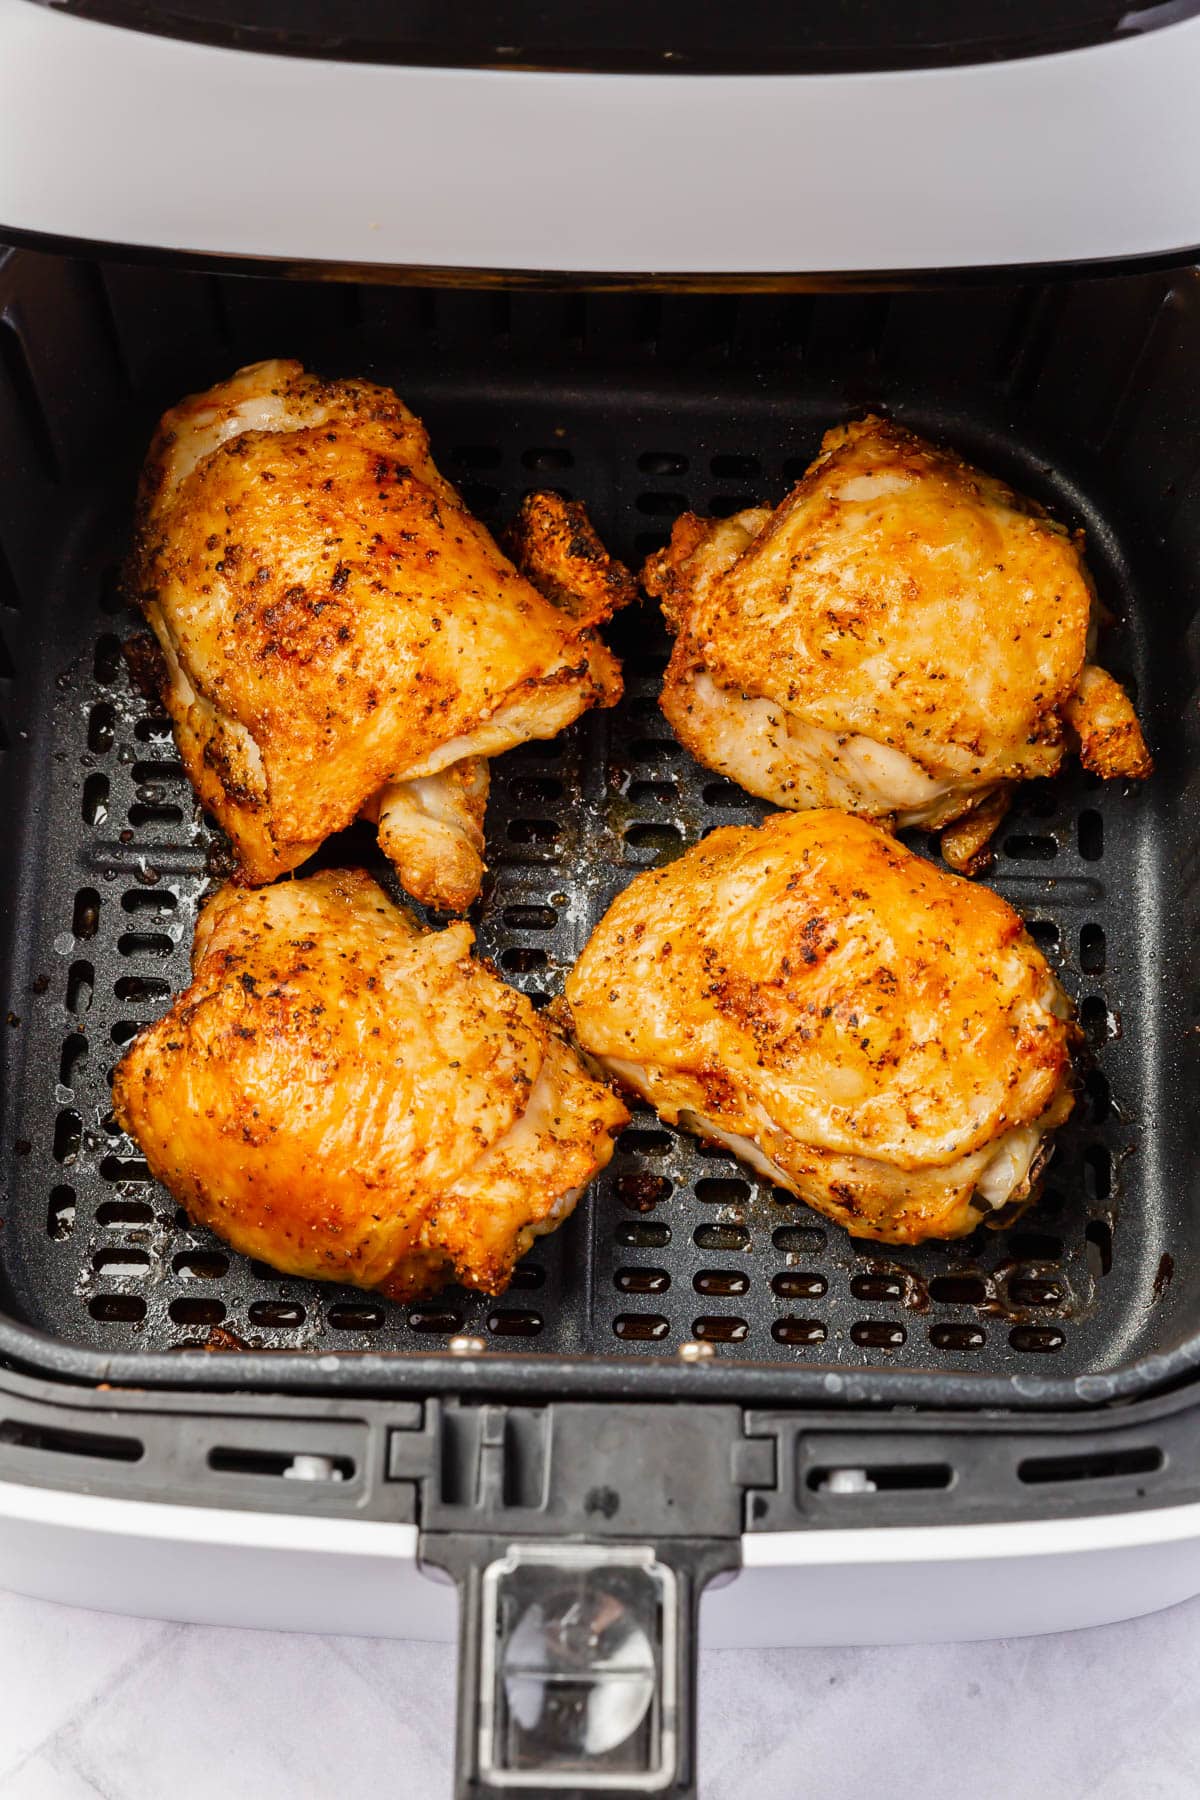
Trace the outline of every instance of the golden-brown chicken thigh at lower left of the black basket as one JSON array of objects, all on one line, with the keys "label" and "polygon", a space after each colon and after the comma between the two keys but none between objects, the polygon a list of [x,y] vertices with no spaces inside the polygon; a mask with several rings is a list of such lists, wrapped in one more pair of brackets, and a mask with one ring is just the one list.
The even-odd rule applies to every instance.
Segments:
[{"label": "golden-brown chicken thigh at lower left of the black basket", "polygon": [[360,871],[227,884],[117,1120],[193,1219],[286,1274],[502,1292],[628,1112],[471,941]]}]

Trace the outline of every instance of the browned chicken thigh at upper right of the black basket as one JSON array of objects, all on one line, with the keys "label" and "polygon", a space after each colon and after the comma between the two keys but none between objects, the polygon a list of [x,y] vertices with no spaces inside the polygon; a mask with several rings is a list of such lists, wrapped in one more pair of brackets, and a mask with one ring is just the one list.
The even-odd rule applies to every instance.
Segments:
[{"label": "browned chicken thigh at upper right of the black basket", "polygon": [[777,806],[963,819],[943,855],[973,871],[1013,783],[1074,740],[1105,776],[1151,770],[1124,689],[1088,662],[1078,538],[885,419],[826,432],[774,511],[684,515],[642,581],[675,632],[662,711]]}]

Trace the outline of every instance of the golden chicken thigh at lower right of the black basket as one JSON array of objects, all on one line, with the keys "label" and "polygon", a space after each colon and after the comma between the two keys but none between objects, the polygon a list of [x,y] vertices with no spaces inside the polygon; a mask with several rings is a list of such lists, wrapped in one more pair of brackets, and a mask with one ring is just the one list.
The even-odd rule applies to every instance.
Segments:
[{"label": "golden chicken thigh at lower right of the black basket", "polygon": [[1072,1107],[1070,1006],[1018,914],[844,812],[639,875],[567,1008],[669,1125],[885,1244],[1013,1217]]}]

